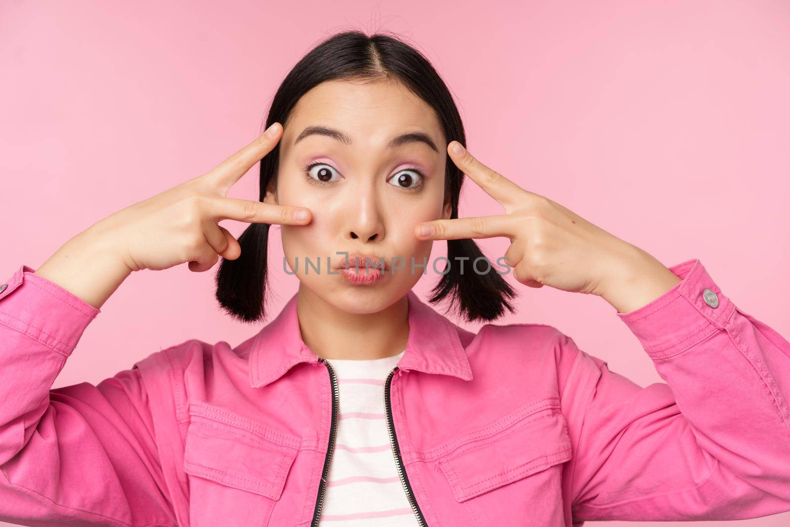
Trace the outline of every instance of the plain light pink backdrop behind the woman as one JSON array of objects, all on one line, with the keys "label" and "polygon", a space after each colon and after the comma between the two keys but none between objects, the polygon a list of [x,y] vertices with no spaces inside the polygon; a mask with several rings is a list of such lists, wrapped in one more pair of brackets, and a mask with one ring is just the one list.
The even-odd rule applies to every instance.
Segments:
[{"label": "plain light pink backdrop behind the woman", "polygon": [[[2,2],[0,282],[251,141],[276,86],[323,37],[382,29],[434,62],[483,163],[664,265],[700,258],[724,294],[790,336],[788,2],[310,4]],[[256,166],[230,195],[256,198],[257,177]],[[501,212],[472,185],[462,196],[462,216]],[[279,310],[297,280],[273,240]],[[480,240],[492,258],[507,243]],[[219,311],[215,271],[134,273],[55,386],[97,383],[190,338],[235,345],[257,332]],[[521,312],[498,323],[551,324],[641,386],[662,382],[603,299],[509,279]],[[118,333],[124,346],[107,348]],[[735,525],[702,525],[719,523]]]}]

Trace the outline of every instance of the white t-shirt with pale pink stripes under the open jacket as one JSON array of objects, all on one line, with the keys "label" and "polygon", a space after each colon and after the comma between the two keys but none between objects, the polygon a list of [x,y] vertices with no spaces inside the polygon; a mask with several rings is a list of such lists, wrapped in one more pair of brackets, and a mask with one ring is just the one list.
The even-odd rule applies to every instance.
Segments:
[{"label": "white t-shirt with pale pink stripes under the open jacket", "polygon": [[384,413],[384,382],[404,352],[383,359],[329,359],[340,416],[321,510],[325,527],[419,525],[397,473]]}]

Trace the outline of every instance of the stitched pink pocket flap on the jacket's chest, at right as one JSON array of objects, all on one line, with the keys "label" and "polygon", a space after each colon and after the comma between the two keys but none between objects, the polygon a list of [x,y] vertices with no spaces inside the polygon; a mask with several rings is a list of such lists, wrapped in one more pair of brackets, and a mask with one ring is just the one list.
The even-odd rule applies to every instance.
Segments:
[{"label": "stitched pink pocket flap on the jacket's chest, at right", "polygon": [[437,461],[459,502],[568,461],[570,435],[560,412],[527,417]]}]

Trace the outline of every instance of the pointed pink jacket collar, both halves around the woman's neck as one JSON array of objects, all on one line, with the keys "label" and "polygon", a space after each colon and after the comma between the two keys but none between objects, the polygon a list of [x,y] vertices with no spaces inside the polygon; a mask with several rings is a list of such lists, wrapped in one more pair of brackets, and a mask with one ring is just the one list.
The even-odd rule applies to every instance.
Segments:
[{"label": "pointed pink jacket collar, both halves around the woman's neck", "polygon": [[[318,356],[302,340],[296,312],[297,294],[254,337],[250,350],[250,386],[254,388],[276,381],[298,363],[318,364]],[[401,370],[472,380],[472,369],[453,322],[423,303],[411,290],[406,297],[408,340],[397,366]]]}]

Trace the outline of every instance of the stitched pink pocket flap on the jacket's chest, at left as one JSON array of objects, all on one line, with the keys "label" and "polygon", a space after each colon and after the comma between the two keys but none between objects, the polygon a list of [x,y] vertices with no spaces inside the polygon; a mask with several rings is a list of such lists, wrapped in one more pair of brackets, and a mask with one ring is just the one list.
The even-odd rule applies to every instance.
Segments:
[{"label": "stitched pink pocket flap on the jacket's chest, at left", "polygon": [[192,416],[186,431],[184,471],[276,500],[297,451],[219,421]]}]

